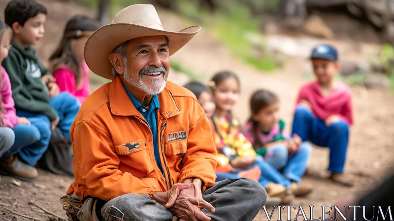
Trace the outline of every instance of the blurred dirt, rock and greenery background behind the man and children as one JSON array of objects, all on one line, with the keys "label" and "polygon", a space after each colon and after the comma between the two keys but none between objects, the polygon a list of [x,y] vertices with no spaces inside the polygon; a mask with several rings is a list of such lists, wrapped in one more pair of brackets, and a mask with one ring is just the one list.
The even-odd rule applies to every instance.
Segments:
[{"label": "blurred dirt, rock and greenery background behind the man and children", "polygon": [[[0,0],[0,18],[9,0]],[[151,3],[165,30],[191,25],[200,33],[171,57],[169,79],[183,85],[190,80],[208,82],[218,71],[240,76],[241,99],[234,114],[245,122],[250,95],[259,88],[275,92],[281,100],[281,117],[290,130],[296,93],[313,80],[308,56],[320,43],[339,50],[342,71],[337,77],[354,93],[355,124],[351,128],[345,173],[356,183],[343,187],[327,181],[328,149],[314,147],[303,182],[314,191],[292,205],[333,205],[347,193],[360,194],[374,186],[392,166],[394,144],[394,0],[39,0],[48,8],[45,37],[37,45],[39,57],[48,58],[59,43],[66,21],[75,14],[112,21],[122,8]],[[91,74],[96,90],[107,80]],[[29,206],[32,198],[66,217],[59,202],[73,178],[40,170],[35,183],[22,186],[0,181],[0,195],[25,202],[24,213],[41,220],[57,220]],[[23,205],[23,204],[22,204]],[[286,211],[283,211],[286,219]],[[321,215],[318,208],[316,213]],[[293,211],[293,217],[296,212]],[[307,213],[309,214],[309,212]],[[309,217],[309,215],[307,215]],[[4,220],[29,220],[10,215]],[[276,218],[275,218],[276,219]],[[263,210],[256,220],[266,220]]]}]

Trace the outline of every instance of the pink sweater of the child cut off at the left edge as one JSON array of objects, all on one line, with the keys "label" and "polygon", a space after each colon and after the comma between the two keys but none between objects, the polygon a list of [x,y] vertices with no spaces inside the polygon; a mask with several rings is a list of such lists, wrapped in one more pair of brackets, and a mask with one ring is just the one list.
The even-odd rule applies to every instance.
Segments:
[{"label": "pink sweater of the child cut off at the left edge", "polygon": [[0,66],[1,72],[1,99],[2,107],[4,109],[4,114],[2,119],[6,127],[14,128],[15,125],[19,123],[19,117],[16,115],[15,103],[12,99],[11,82],[5,69]]}]

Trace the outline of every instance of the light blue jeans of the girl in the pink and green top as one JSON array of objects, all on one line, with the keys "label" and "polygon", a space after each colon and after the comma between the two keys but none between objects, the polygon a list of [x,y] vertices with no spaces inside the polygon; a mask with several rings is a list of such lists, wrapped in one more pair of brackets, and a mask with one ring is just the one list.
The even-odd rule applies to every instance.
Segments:
[{"label": "light blue jeans of the girl in the pink and green top", "polygon": [[302,142],[296,153],[289,155],[289,150],[285,145],[276,145],[267,149],[265,160],[291,181],[301,183],[308,164],[312,146],[308,142]]}]

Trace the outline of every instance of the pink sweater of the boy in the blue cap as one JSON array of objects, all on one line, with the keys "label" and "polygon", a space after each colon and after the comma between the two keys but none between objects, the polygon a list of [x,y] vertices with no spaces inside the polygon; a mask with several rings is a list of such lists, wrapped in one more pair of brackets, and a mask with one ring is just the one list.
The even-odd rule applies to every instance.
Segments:
[{"label": "pink sweater of the boy in the blue cap", "polygon": [[308,101],[314,115],[326,120],[331,115],[339,115],[349,125],[353,124],[352,91],[338,81],[336,88],[325,97],[317,81],[304,85],[299,91],[297,105],[301,100]]}]

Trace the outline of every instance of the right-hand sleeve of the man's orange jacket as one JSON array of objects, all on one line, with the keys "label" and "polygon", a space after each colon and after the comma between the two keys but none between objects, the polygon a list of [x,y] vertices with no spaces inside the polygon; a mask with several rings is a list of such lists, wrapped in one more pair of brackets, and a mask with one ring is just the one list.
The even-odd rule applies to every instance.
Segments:
[{"label": "right-hand sleeve of the man's orange jacket", "polygon": [[215,184],[216,148],[213,144],[211,127],[202,108],[196,122],[189,127],[188,147],[183,157],[180,183],[188,178],[203,182],[201,191]]}]

